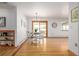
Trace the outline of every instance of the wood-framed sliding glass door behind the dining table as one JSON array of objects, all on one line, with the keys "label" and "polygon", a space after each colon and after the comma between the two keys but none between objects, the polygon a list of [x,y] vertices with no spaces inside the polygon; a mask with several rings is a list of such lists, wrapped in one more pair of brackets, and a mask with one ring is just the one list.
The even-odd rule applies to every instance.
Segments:
[{"label": "wood-framed sliding glass door behind the dining table", "polygon": [[32,21],[32,31],[42,32],[44,37],[48,37],[48,21]]}]

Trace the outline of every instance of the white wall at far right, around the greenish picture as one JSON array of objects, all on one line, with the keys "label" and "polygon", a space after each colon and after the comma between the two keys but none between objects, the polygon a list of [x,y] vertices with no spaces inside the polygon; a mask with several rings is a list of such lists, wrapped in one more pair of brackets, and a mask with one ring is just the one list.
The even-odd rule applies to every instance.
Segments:
[{"label": "white wall at far right, around the greenish picture", "polygon": [[[70,24],[70,30],[69,30],[69,40],[68,40],[68,46],[69,50],[74,52],[76,55],[79,55],[79,37],[78,37],[78,29],[79,29],[79,22],[71,22],[71,10],[78,6],[78,3],[69,3],[69,24]],[[75,43],[77,43],[77,47],[75,46]]]}]

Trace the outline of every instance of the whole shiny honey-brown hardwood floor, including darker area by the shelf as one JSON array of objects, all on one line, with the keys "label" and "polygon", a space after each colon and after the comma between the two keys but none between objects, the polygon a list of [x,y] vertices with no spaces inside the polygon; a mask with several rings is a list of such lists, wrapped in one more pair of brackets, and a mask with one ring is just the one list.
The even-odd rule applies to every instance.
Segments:
[{"label": "whole shiny honey-brown hardwood floor, including darker area by the shelf", "polygon": [[0,46],[0,55],[75,56],[75,54],[68,50],[67,38],[44,38],[38,44],[32,44],[31,40],[32,39],[29,39],[24,42],[20,49],[15,47]]}]

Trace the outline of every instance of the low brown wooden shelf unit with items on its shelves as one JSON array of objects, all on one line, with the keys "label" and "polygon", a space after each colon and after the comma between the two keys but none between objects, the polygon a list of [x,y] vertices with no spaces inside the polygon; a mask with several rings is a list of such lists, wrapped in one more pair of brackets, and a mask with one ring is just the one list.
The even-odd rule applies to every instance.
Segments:
[{"label": "low brown wooden shelf unit with items on its shelves", "polygon": [[15,30],[0,30],[0,45],[15,45]]}]

